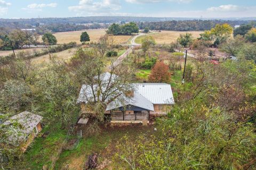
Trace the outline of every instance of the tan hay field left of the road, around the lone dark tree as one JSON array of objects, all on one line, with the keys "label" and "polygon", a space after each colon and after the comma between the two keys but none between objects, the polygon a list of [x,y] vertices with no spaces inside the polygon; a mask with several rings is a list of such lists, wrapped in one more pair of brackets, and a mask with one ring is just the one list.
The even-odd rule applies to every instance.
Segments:
[{"label": "tan hay field left of the road, around the lone dark tree", "polygon": [[[99,38],[106,33],[106,29],[90,29],[84,30],[90,36],[90,42],[97,42]],[[77,44],[81,44],[80,36],[83,31],[69,31],[69,32],[57,32],[54,33],[54,36],[58,40],[58,44],[70,43],[71,41],[75,41]],[[120,44],[129,40],[131,36],[114,36],[114,43]]]}]

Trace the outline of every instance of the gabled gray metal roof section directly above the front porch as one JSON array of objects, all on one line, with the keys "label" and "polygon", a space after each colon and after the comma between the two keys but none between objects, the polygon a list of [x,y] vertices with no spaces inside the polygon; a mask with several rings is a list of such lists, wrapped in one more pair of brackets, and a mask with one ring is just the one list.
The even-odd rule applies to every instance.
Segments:
[{"label": "gabled gray metal roof section directly above the front porch", "polygon": [[127,105],[133,105],[140,108],[144,108],[146,111],[154,111],[153,103],[151,103],[151,101],[149,101],[148,99],[140,95],[138,92],[134,92],[133,97],[122,96],[121,100],[117,99],[112,101],[111,103],[108,104],[106,111],[110,111],[112,109],[119,108],[122,106],[127,106]]}]

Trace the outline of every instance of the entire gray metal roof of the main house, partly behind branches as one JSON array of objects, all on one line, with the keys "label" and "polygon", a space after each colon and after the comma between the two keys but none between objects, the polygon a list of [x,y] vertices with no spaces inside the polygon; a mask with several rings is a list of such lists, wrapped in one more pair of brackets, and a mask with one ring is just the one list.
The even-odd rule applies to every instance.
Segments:
[{"label": "entire gray metal roof of the main house, partly behind branches", "polygon": [[[111,76],[111,78],[110,78]],[[94,77],[98,79],[98,77]],[[105,85],[110,82],[114,82],[114,79],[117,79],[118,76],[115,74],[110,74],[108,72],[100,75],[99,79],[101,80],[102,86],[101,90],[105,90]],[[172,94],[172,88],[170,84],[167,83],[132,83],[132,89],[134,89],[134,97],[127,98],[125,95],[121,95],[115,101],[112,101],[108,106],[106,111],[110,109],[118,108],[125,105],[133,105],[141,108],[145,108],[149,111],[154,111],[153,104],[174,104],[174,98]],[[97,84],[92,87],[86,84],[83,84],[77,103],[87,103],[88,101],[93,101],[92,91],[98,91],[99,87]],[[112,92],[108,92],[109,98],[116,96],[116,93],[119,92],[118,89],[113,89]]]}]

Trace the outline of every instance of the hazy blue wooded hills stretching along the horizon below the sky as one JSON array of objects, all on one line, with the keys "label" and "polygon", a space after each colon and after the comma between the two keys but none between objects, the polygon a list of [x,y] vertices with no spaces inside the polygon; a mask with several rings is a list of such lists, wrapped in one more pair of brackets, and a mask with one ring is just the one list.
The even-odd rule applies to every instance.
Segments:
[{"label": "hazy blue wooded hills stretching along the horizon below the sky", "polygon": [[[134,21],[140,29],[149,27],[151,30],[202,31],[215,27],[216,24],[228,23],[235,25],[247,24],[256,18],[160,18],[135,16],[86,16],[73,18],[31,18],[31,19],[0,19],[0,30],[7,32],[13,29],[36,29],[36,32],[65,32],[85,29],[108,28],[111,23]],[[0,31],[1,32],[1,31]],[[3,31],[2,31],[3,32]]]}]

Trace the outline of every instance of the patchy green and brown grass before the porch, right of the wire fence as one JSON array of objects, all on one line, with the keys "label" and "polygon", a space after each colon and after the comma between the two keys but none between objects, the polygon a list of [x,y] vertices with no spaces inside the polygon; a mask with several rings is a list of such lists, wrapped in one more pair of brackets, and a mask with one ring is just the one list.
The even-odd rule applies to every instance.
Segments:
[{"label": "patchy green and brown grass before the porch, right of the wire fence", "polygon": [[82,138],[76,149],[63,151],[55,169],[61,169],[66,165],[68,165],[69,169],[83,169],[84,162],[93,152],[99,154],[99,163],[102,159],[107,158],[111,160],[109,155],[115,152],[114,147],[117,140],[122,138],[125,134],[129,136],[130,139],[133,139],[141,134],[141,132],[145,133],[150,130],[148,126],[143,127],[141,125],[120,128],[109,126],[97,135]]}]

